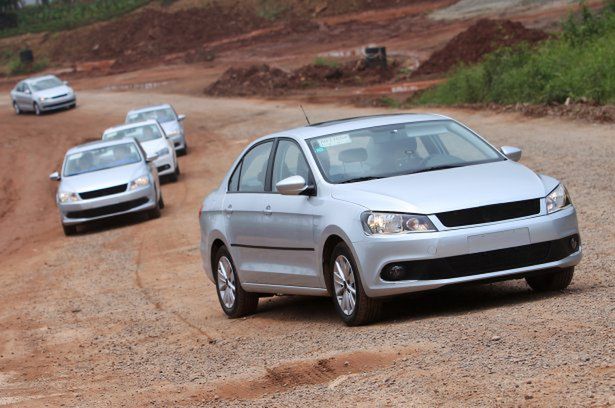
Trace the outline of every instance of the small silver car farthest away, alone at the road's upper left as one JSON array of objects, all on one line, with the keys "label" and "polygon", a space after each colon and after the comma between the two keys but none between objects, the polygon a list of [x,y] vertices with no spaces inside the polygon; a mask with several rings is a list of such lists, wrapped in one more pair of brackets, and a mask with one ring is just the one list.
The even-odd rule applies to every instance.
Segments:
[{"label": "small silver car farthest away, alone at the road's upper left", "polygon": [[11,91],[11,103],[16,114],[74,108],[77,106],[75,91],[67,82],[54,75],[24,79]]}]

